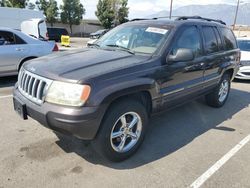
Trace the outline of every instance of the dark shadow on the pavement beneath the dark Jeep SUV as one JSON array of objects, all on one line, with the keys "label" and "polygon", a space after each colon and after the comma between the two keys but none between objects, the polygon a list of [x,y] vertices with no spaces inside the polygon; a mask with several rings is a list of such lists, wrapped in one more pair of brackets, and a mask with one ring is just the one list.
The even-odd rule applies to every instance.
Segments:
[{"label": "dark shadow on the pavement beneath the dark Jeep SUV", "polygon": [[204,99],[187,103],[179,108],[152,117],[144,143],[130,159],[112,163],[99,157],[91,145],[83,144],[76,138],[59,136],[57,144],[67,153],[75,152],[85,160],[114,169],[132,169],[161,159],[189,144],[196,137],[210,129],[235,131],[221,127],[221,123],[231,119],[250,104],[250,93],[231,90],[223,108],[211,108]]}]

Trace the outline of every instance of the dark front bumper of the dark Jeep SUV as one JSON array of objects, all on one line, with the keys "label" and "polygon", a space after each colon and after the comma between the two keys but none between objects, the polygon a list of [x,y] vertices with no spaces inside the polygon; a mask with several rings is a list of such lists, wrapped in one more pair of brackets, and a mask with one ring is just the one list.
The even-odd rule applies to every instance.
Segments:
[{"label": "dark front bumper of the dark Jeep SUV", "polygon": [[104,106],[70,108],[46,102],[37,105],[24,97],[17,87],[13,97],[25,104],[27,115],[43,126],[84,140],[95,138],[106,110]]}]

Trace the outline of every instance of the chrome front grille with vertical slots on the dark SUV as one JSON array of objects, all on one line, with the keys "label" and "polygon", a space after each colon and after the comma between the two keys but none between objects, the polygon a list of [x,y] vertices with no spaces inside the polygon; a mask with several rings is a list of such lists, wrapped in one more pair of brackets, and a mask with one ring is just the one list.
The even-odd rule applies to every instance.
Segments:
[{"label": "chrome front grille with vertical slots on the dark SUV", "polygon": [[18,89],[29,100],[42,104],[44,96],[52,80],[35,75],[31,72],[20,70],[18,75]]}]

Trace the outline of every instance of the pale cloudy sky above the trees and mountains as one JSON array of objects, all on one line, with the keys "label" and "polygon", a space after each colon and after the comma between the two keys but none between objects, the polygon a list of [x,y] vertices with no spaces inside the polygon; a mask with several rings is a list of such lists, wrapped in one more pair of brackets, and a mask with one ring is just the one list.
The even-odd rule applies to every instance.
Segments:
[{"label": "pale cloudy sky above the trees and mountains", "polygon": [[[34,1],[34,0],[32,0]],[[80,0],[86,9],[85,19],[96,19],[95,11],[98,0]],[[243,0],[250,2],[250,0]],[[243,3],[242,1],[242,3]],[[57,0],[62,4],[62,0]],[[173,0],[173,9],[186,5],[236,4],[237,0]],[[170,0],[128,0],[129,18],[142,18],[154,13],[169,10]]]}]

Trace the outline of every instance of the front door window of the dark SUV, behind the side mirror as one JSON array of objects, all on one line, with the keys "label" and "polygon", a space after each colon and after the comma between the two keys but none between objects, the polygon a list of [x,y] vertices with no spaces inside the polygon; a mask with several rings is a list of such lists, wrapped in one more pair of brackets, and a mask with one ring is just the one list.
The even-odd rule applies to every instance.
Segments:
[{"label": "front door window of the dark SUV, behind the side mirror", "polygon": [[172,55],[175,55],[177,50],[180,48],[193,50],[195,57],[201,56],[200,33],[196,26],[187,27],[182,31],[181,35],[174,44]]}]

